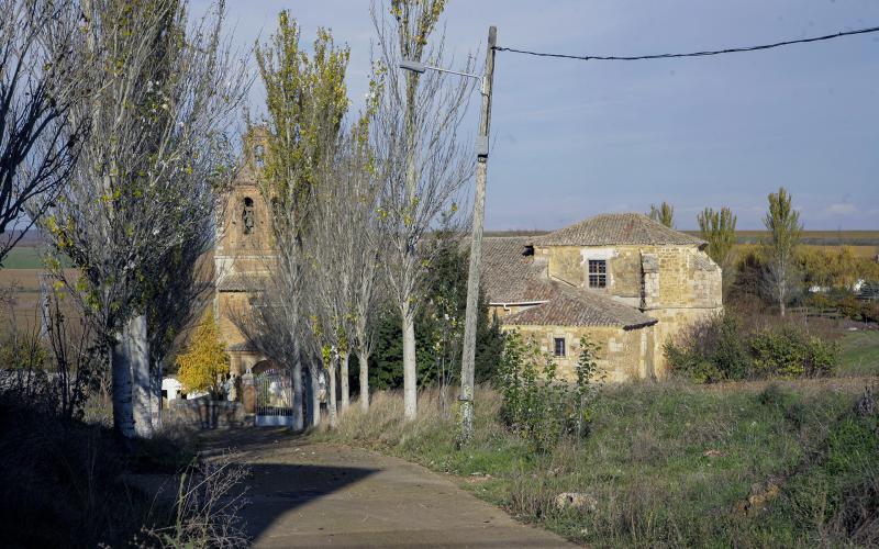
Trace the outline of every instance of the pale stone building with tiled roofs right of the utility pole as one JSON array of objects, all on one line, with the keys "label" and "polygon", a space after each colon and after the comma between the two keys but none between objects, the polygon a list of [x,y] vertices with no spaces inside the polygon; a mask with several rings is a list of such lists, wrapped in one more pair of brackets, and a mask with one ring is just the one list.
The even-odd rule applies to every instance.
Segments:
[{"label": "pale stone building with tiled roofs right of the utility pole", "polygon": [[486,238],[482,281],[505,329],[534,337],[574,377],[579,339],[612,381],[661,378],[663,347],[723,309],[706,243],[639,213],[603,214],[537,237]]}]

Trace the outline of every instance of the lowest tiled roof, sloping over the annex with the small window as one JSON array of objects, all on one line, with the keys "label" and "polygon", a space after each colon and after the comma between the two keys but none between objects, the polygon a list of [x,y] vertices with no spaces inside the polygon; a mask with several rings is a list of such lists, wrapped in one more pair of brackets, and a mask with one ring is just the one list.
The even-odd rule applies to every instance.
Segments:
[{"label": "lowest tiled roof, sloping over the annex with the small window", "polygon": [[521,326],[620,326],[637,328],[656,324],[635,307],[616,302],[605,295],[553,283],[553,296],[503,318],[504,324]]}]

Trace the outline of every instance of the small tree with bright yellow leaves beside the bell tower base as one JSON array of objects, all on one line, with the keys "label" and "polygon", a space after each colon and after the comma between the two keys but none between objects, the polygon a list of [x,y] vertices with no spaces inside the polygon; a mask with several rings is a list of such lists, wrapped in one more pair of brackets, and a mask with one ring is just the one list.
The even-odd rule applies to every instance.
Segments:
[{"label": "small tree with bright yellow leaves beside the bell tower base", "polygon": [[196,328],[188,350],[177,357],[177,379],[187,391],[220,393],[223,378],[229,373],[229,355],[210,309]]}]

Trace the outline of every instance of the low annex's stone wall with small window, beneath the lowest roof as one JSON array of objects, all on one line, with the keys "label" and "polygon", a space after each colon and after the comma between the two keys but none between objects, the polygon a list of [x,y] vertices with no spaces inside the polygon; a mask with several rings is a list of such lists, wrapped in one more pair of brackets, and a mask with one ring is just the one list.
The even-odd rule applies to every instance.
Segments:
[{"label": "low annex's stone wall with small window, beneath the lowest roof", "polygon": [[586,336],[599,347],[598,366],[607,372],[607,381],[622,382],[650,379],[654,374],[653,326],[623,329],[613,326],[505,326],[518,330],[523,339],[534,338],[544,352],[553,354],[555,338],[565,338],[566,356],[555,357],[559,376],[575,381],[575,367],[580,356],[580,337]]}]

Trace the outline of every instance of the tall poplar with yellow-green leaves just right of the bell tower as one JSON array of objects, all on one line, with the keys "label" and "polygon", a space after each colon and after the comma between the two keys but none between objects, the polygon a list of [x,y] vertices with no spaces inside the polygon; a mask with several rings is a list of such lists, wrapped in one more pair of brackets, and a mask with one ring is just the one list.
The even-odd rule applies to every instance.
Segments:
[{"label": "tall poplar with yellow-green leaves just right of the bell tower", "polygon": [[[271,229],[277,259],[264,278],[256,298],[255,338],[269,341],[269,356],[291,368],[293,428],[301,417],[304,388],[300,340],[310,337],[309,315],[302,302],[304,288],[304,239],[308,237],[320,168],[332,158],[342,122],[348,110],[345,72],[348,47],[336,47],[330,31],[318,30],[309,55],[300,47],[300,27],[288,11],[278,15],[278,30],[265,45],[257,44],[256,60],[266,87],[268,111],[266,158],[260,189],[271,204]],[[246,324],[246,322],[244,323]],[[272,333],[281,330],[281,333]],[[259,333],[262,332],[262,335]],[[311,367],[313,395],[319,372]],[[312,401],[312,423],[320,421],[319,403]]]}]

